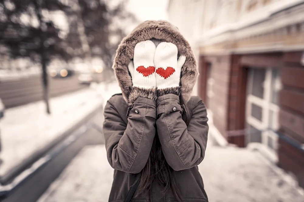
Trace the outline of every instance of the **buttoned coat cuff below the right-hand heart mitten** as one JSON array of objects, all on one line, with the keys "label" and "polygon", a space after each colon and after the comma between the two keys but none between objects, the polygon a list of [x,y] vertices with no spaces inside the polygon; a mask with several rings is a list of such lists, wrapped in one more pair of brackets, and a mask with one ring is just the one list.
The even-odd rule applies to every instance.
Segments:
[{"label": "buttoned coat cuff below the right-hand heart mitten", "polygon": [[179,96],[175,94],[159,96],[156,100],[156,111],[157,116],[161,113],[167,115],[172,112],[180,112],[182,114],[183,109],[179,104]]}]

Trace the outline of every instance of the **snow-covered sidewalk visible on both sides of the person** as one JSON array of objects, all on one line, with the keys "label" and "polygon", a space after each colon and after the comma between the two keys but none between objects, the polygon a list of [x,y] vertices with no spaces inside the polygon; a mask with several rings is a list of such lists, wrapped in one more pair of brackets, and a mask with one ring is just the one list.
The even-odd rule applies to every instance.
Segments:
[{"label": "snow-covered sidewalk visible on both sides of the person", "polygon": [[[199,165],[210,202],[303,202],[296,186],[285,183],[259,153],[209,139]],[[108,201],[113,169],[104,145],[87,146],[38,202]]]}]

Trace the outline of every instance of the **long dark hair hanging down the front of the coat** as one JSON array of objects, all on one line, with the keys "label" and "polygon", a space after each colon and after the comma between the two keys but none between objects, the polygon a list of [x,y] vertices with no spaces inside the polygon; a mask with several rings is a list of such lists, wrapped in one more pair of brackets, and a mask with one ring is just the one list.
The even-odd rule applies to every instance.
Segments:
[{"label": "long dark hair hanging down the front of the coat", "polygon": [[[183,113],[182,118],[188,126],[191,120],[192,111],[187,106],[187,103],[184,102],[182,96],[180,96],[180,105],[185,105],[187,113]],[[148,161],[139,175],[140,183],[138,186],[139,188],[136,191],[136,196],[140,195],[144,191],[149,191],[152,183],[156,181],[163,186],[161,191],[162,196],[164,196],[171,188],[175,198],[181,202],[181,195],[175,180],[174,170],[168,165],[164,157],[161,150],[161,143],[157,135],[154,137],[154,142],[152,144]]]}]

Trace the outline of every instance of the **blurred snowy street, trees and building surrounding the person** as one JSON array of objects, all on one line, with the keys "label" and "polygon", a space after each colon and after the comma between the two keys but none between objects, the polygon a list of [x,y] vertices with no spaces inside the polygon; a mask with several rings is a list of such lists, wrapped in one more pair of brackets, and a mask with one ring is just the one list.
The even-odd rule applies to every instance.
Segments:
[{"label": "blurred snowy street, trees and building surrounding the person", "polygon": [[303,0],[0,0],[0,201],[108,201],[112,61],[163,19],[198,61],[209,201],[304,202],[303,13]]}]

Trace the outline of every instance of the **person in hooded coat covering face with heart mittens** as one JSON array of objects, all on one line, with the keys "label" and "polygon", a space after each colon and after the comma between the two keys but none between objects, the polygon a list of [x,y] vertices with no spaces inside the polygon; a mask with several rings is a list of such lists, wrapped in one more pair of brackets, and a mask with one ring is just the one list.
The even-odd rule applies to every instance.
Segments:
[{"label": "person in hooded coat covering face with heart mittens", "polygon": [[205,104],[191,96],[193,51],[167,21],[145,21],[120,43],[113,69],[122,90],[104,108],[109,201],[208,201],[198,165],[205,156]]}]

